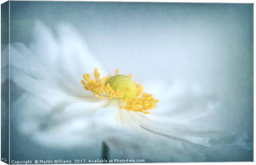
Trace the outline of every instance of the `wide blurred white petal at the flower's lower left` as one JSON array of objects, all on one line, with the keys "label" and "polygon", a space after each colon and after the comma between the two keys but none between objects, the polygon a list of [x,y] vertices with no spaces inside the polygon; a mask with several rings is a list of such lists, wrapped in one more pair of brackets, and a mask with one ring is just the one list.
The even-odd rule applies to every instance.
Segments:
[{"label": "wide blurred white petal at the flower's lower left", "polygon": [[[55,100],[54,96],[50,96]],[[99,139],[92,130],[95,111],[106,102],[59,101],[52,105],[33,95],[23,94],[12,105],[12,120],[24,135],[47,146],[90,144]],[[18,118],[17,118],[18,117]],[[45,138],[47,137],[47,138]]]}]

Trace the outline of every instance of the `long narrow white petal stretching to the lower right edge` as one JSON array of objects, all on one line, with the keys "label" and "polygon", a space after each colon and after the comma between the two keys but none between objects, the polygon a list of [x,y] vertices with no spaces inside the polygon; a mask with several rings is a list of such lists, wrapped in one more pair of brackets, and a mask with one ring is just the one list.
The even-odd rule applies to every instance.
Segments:
[{"label": "long narrow white petal stretching to the lower right edge", "polygon": [[137,113],[132,116],[144,130],[171,139],[178,139],[180,141],[190,142],[192,144],[206,147],[233,145],[247,150],[252,149],[252,144],[248,141],[246,132],[242,132],[242,134],[230,134],[227,132],[221,132],[221,130],[211,130],[209,127],[204,128],[199,125],[189,125],[189,123],[175,125],[154,122]]}]

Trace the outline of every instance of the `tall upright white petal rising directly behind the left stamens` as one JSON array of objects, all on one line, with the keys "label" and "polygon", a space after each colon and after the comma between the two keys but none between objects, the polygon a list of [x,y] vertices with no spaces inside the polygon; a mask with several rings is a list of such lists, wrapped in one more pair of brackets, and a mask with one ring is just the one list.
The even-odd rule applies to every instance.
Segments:
[{"label": "tall upright white petal rising directly behind the left stamens", "polygon": [[76,92],[77,86],[81,86],[83,74],[93,75],[95,68],[100,72],[100,76],[106,76],[100,62],[95,59],[88,50],[86,42],[81,38],[75,29],[69,25],[62,25],[58,28],[60,56],[57,58],[55,69],[62,77],[68,78],[73,84],[69,91]]}]

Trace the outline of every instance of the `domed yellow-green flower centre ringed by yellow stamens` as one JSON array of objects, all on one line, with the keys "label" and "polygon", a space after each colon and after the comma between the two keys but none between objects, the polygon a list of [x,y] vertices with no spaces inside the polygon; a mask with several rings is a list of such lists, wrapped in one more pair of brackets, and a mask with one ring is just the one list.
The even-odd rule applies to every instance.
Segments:
[{"label": "domed yellow-green flower centre ringed by yellow stamens", "polygon": [[123,92],[123,98],[133,99],[136,95],[136,84],[127,75],[114,75],[105,84],[107,85],[108,83],[114,91],[120,90]]}]

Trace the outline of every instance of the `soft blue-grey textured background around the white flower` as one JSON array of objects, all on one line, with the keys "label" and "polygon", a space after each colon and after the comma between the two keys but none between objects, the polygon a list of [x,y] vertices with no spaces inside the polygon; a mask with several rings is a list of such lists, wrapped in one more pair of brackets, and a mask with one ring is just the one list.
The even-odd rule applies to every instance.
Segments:
[{"label": "soft blue-grey textured background around the white flower", "polygon": [[[11,1],[10,9],[11,42],[31,41],[35,20],[54,31],[55,25],[70,23],[109,73],[119,68],[133,73],[138,82],[181,80],[197,83],[205,92],[215,91],[223,105],[215,114],[221,120],[210,117],[208,123],[246,131],[252,141],[252,4]],[[11,123],[11,159],[68,159],[84,154],[83,148],[50,150],[17,132]],[[230,157],[222,157],[221,152],[209,153],[206,160],[253,159],[252,151],[236,149],[237,156]]]}]

